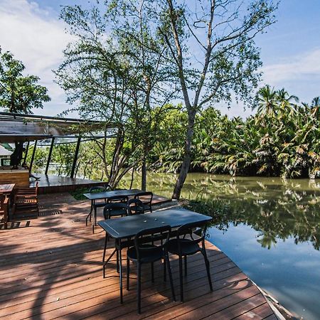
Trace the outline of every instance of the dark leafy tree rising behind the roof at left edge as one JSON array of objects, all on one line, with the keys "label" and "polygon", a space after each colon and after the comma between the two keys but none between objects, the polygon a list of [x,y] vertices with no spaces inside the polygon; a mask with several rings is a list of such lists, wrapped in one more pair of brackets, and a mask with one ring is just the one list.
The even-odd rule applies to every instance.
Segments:
[{"label": "dark leafy tree rising behind the roof at left edge", "polygon": [[9,51],[0,48],[0,107],[9,112],[32,113],[50,101],[47,88],[38,85],[36,75],[23,76],[25,66]]}]

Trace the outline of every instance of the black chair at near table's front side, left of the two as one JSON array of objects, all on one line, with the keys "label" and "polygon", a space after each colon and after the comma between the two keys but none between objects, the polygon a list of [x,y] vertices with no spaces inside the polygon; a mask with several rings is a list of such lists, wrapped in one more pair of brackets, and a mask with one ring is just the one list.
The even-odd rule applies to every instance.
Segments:
[{"label": "black chair at near table's front side, left of the two", "polygon": [[[164,281],[166,281],[166,268],[169,273],[169,280],[171,286],[171,293],[174,301],[176,296],[174,294],[174,284],[172,281],[171,267],[166,249],[166,244],[169,241],[171,227],[169,225],[161,226],[160,228],[151,228],[139,232],[134,238],[134,247],[129,247],[127,250],[127,290],[129,290],[129,274],[130,262],[137,263],[137,311],[141,313],[141,266],[144,263],[151,264],[151,281],[154,282],[154,262],[164,259]],[[161,245],[154,245],[153,239],[165,238],[166,241]],[[146,239],[151,240],[151,244],[146,244]]]}]

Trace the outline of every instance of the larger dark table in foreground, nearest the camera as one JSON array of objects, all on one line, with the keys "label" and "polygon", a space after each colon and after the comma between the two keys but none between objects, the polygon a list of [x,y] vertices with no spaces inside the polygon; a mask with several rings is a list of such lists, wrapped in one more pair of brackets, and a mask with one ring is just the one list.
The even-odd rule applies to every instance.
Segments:
[{"label": "larger dark table in foreground, nearest the camera", "polygon": [[[113,218],[103,220],[98,223],[100,227],[105,230],[115,240],[115,250],[112,255],[104,262],[104,276],[105,276],[105,265],[110,261],[110,258],[114,255],[116,250],[119,250],[119,278],[120,278],[120,302],[123,302],[122,298],[122,254],[121,250],[122,240],[128,240],[134,237],[142,230],[149,228],[157,228],[162,225],[170,225],[171,228],[178,228],[186,223],[205,223],[212,220],[208,215],[202,215],[190,210],[182,208],[167,209],[154,211],[154,213],[145,213],[144,215],[129,215],[123,218]],[[129,241],[127,241],[129,243]]]}]

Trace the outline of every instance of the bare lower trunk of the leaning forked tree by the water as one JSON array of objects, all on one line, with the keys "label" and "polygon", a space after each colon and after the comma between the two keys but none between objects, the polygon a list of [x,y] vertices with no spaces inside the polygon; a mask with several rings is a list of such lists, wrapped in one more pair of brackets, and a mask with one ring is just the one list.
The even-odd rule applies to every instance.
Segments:
[{"label": "bare lower trunk of the leaning forked tree by the water", "polygon": [[191,142],[193,138],[193,127],[194,127],[195,114],[189,114],[188,119],[188,129],[186,132],[186,141],[184,143],[184,157],[181,164],[181,169],[179,172],[178,180],[176,181],[176,186],[174,187],[174,193],[172,198],[179,200],[181,196],[181,190],[183,187],[184,181],[186,181],[186,176],[191,164]]}]

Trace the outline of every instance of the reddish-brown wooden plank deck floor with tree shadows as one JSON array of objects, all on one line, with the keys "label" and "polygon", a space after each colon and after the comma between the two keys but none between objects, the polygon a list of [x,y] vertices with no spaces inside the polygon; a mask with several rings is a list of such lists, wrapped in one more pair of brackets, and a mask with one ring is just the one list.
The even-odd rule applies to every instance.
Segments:
[{"label": "reddish-brown wooden plank deck floor with tree shadows", "polygon": [[[115,261],[103,279],[105,234],[100,228],[92,234],[85,226],[87,210],[89,203],[66,193],[41,196],[38,219],[16,222],[9,230],[0,228],[1,319],[277,319],[257,287],[210,242],[213,292],[201,254],[188,258],[183,304],[171,300],[160,263],[155,265],[154,283],[145,266],[138,316],[135,267],[131,289],[124,289],[120,304]],[[171,257],[171,267],[178,296],[176,257]]]}]

